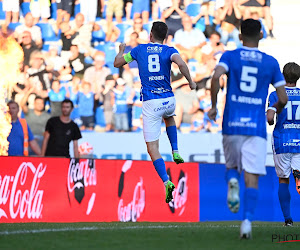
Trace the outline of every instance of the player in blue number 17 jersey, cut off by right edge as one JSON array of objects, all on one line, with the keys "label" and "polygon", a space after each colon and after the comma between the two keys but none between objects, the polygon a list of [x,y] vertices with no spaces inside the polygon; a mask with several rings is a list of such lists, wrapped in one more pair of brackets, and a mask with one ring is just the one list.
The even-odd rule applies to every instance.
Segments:
[{"label": "player in blue number 17 jersey, cut off by right edge", "polygon": [[[288,63],[283,68],[286,81],[285,91],[289,101],[285,109],[277,115],[273,131],[273,157],[276,174],[279,178],[278,197],[285,219],[285,226],[293,226],[290,212],[291,195],[289,191],[289,177],[293,170],[297,192],[300,194],[300,88],[296,82],[300,78],[300,66]],[[276,109],[273,107],[278,101],[276,92],[269,96],[267,119],[274,124]]]}]

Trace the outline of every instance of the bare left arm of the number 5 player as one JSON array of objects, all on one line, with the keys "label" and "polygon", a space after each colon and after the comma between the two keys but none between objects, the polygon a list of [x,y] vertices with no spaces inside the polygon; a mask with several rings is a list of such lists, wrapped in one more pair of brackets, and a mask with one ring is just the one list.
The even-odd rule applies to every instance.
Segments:
[{"label": "bare left arm of the number 5 player", "polygon": [[220,89],[220,77],[225,74],[227,71],[226,69],[218,65],[215,69],[215,73],[212,76],[211,79],[211,109],[208,111],[208,117],[211,120],[216,120],[216,116],[218,113],[217,110],[217,95]]}]

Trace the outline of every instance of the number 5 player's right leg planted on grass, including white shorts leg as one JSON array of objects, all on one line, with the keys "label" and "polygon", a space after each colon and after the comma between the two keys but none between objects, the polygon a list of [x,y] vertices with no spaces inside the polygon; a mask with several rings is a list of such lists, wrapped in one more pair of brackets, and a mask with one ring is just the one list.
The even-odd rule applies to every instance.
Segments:
[{"label": "number 5 player's right leg planted on grass, including white shorts leg", "polygon": [[266,174],[267,140],[258,136],[248,136],[241,148],[242,166],[245,170],[244,213],[241,224],[241,238],[251,238],[251,222],[258,200],[258,177]]}]

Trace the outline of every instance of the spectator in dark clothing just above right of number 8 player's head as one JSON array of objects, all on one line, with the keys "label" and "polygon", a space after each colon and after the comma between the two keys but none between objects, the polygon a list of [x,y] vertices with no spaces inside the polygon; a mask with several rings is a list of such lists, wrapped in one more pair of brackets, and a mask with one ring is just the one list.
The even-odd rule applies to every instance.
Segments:
[{"label": "spectator in dark clothing just above right of number 8 player's head", "polygon": [[[161,5],[161,2],[159,5]],[[171,36],[172,39],[175,32],[182,28],[182,18],[186,15],[183,11],[184,4],[182,0],[172,0],[172,5],[163,6],[162,21],[168,25],[168,36]]]}]

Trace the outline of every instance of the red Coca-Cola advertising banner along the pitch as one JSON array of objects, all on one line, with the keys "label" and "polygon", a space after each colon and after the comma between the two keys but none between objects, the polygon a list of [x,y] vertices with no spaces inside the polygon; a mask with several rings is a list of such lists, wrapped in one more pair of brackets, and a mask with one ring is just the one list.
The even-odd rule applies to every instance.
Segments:
[{"label": "red Coca-Cola advertising banner along the pitch", "polygon": [[199,221],[199,164],[0,157],[0,222]]}]

